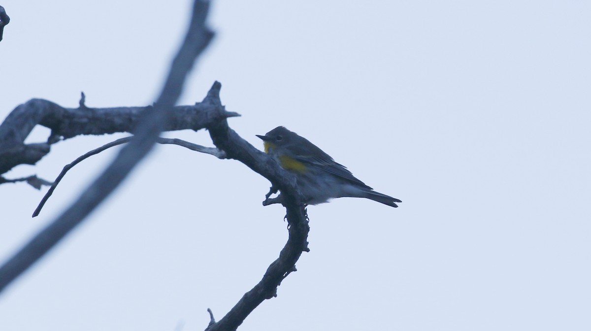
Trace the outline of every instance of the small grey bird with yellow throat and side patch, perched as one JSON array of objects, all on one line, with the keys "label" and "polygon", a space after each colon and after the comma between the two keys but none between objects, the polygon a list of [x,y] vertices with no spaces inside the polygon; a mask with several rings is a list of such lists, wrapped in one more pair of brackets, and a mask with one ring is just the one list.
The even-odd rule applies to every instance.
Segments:
[{"label": "small grey bird with yellow throat and side patch, perched", "polygon": [[308,139],[283,126],[256,137],[264,141],[266,153],[296,176],[300,193],[308,205],[328,202],[336,197],[365,197],[392,207],[398,207],[396,202],[401,202],[375,192]]}]

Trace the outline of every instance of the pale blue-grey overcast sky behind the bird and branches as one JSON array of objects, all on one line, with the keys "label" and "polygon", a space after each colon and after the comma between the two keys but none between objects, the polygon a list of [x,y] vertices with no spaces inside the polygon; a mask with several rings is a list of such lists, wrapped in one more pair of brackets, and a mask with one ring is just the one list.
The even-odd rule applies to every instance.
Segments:
[{"label": "pale blue-grey overcast sky behind the bird and branches", "polygon": [[[89,107],[154,102],[191,2],[0,5],[4,118],[31,98],[75,107],[80,91]],[[219,80],[252,144],[285,125],[403,201],[309,207],[311,251],[239,330],[591,329],[590,17],[589,1],[215,1],[180,104]],[[123,136],[60,142],[6,177],[53,180]],[[116,150],[74,167],[35,219],[46,189],[1,185],[0,259]],[[238,161],[155,147],[1,294],[0,330],[203,330],[285,244],[268,187]]]}]

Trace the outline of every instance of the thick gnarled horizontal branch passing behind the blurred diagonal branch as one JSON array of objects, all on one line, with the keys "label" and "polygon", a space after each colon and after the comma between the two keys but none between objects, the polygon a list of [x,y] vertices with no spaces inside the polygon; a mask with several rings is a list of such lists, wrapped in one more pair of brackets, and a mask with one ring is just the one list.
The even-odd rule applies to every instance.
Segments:
[{"label": "thick gnarled horizontal branch passing behind the blurred diagonal branch", "polygon": [[[77,135],[102,135],[115,132],[133,133],[146,107],[88,108],[85,96],[79,108],[64,108],[43,99],[32,99],[14,109],[0,125],[0,174],[18,164],[35,164],[50,152],[50,144]],[[193,129],[197,131],[217,120],[240,116],[235,112],[213,112],[210,106],[176,106],[164,125],[164,131]],[[35,125],[51,129],[47,143],[24,144]]]}]

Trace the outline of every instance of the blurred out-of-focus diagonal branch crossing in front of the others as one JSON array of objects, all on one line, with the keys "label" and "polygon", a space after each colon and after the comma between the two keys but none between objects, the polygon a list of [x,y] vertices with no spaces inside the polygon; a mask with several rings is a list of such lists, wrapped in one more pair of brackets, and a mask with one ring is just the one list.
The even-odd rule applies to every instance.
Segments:
[{"label": "blurred out-of-focus diagonal branch crossing in front of the others", "polygon": [[177,102],[194,60],[213,37],[212,31],[205,26],[207,12],[209,1],[194,2],[189,31],[173,61],[163,91],[154,108],[145,109],[145,114],[135,130],[134,139],[122,148],[113,163],[80,194],[72,206],[0,267],[0,291],[82,222],[151,150],[164,129],[164,123],[168,121],[168,114]]}]

